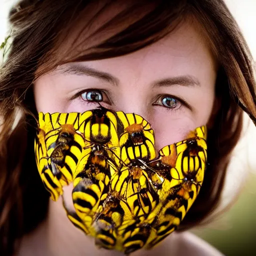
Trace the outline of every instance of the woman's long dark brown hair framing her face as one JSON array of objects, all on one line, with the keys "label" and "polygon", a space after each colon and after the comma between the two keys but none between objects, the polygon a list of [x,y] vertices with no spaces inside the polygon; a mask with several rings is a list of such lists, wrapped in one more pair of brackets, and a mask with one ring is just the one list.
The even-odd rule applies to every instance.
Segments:
[{"label": "woman's long dark brown hair framing her face", "polygon": [[[215,94],[221,100],[208,129],[204,181],[179,230],[201,223],[219,205],[230,153],[241,134],[243,111],[256,120],[253,59],[246,42],[222,0],[125,2],[125,8],[97,24],[91,34],[88,28],[116,1],[21,0],[9,12],[12,43],[0,69],[2,255],[11,255],[16,241],[47,216],[49,194],[36,170],[33,151],[37,127],[33,81],[64,62],[110,58],[143,48],[171,33],[188,16],[199,24],[217,59]],[[58,48],[74,26],[80,30],[72,47],[63,45],[68,58],[59,59]],[[82,49],[82,44],[87,47]]]}]

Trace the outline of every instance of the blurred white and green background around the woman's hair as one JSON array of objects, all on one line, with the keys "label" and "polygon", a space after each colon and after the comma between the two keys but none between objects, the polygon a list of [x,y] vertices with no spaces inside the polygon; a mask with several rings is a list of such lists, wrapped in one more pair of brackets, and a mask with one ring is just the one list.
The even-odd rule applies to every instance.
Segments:
[{"label": "blurred white and green background around the woman's hair", "polygon": [[[6,37],[6,17],[13,2],[16,1],[0,0],[0,43]],[[256,59],[256,0],[225,2]],[[244,117],[243,135],[229,165],[221,207],[232,199],[234,203],[214,221],[192,230],[228,256],[256,255],[256,128]]]}]

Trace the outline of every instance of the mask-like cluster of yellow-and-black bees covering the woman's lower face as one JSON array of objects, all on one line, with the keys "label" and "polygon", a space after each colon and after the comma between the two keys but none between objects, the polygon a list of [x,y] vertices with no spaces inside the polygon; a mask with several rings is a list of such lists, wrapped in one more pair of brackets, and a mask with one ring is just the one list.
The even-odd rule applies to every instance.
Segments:
[{"label": "mask-like cluster of yellow-and-black bees covering the woman's lower face", "polygon": [[35,156],[57,200],[73,182],[68,218],[95,243],[129,254],[174,231],[194,202],[206,164],[206,127],[156,156],[151,125],[134,113],[99,107],[39,113]]}]

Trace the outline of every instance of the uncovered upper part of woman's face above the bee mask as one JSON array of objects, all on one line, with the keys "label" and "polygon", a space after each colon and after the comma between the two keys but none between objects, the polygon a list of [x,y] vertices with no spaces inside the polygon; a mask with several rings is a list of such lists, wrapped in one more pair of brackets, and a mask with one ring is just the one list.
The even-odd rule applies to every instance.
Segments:
[{"label": "uncovered upper part of woman's face above the bee mask", "polygon": [[216,63],[197,29],[184,23],[136,52],[72,62],[34,83],[37,111],[83,112],[104,107],[136,113],[152,125],[156,149],[207,124],[216,103]]}]

